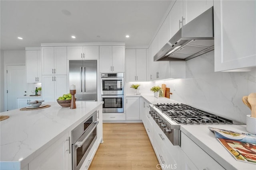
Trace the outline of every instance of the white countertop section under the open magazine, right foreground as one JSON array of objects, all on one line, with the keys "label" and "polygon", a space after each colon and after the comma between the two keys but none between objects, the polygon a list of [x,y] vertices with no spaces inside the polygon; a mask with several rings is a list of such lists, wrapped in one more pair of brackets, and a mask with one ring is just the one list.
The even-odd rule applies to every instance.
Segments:
[{"label": "white countertop section under the open magazine, right foreground", "polygon": [[246,125],[181,125],[180,130],[225,169],[256,169],[256,164],[235,160],[228,150],[226,150],[215,138],[214,133],[208,129],[209,126],[230,131],[248,133],[246,131]]}]

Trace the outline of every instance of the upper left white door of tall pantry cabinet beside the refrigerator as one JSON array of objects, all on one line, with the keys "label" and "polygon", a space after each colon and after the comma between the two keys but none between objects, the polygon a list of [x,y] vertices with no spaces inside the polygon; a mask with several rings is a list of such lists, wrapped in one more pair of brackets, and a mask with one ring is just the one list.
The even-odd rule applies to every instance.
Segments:
[{"label": "upper left white door of tall pantry cabinet beside the refrigerator", "polygon": [[54,74],[54,47],[42,47],[42,75]]}]

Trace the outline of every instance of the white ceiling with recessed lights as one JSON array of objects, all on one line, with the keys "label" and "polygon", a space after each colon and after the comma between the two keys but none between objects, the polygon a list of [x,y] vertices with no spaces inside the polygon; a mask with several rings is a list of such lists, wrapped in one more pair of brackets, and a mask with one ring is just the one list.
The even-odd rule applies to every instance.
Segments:
[{"label": "white ceiling with recessed lights", "polygon": [[[148,45],[171,1],[0,0],[0,3],[1,50],[24,50],[40,47],[41,43]],[[18,36],[23,40],[17,39]]]}]

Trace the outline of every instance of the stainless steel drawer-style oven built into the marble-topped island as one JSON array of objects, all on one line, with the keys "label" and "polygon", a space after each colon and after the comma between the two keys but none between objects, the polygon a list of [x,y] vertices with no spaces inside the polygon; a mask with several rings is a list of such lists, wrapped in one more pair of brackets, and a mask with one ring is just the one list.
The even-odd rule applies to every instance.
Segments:
[{"label": "stainless steel drawer-style oven built into the marble-topped island", "polygon": [[73,170],[80,169],[97,139],[97,125],[99,122],[96,119],[97,111],[71,131]]}]

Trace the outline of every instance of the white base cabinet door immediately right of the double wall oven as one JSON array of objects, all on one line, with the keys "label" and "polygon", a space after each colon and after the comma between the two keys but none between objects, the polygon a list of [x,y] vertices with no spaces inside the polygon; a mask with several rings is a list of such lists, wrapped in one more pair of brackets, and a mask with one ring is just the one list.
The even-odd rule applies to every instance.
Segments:
[{"label": "white base cabinet door immediately right of the double wall oven", "polygon": [[140,98],[126,97],[126,120],[140,120]]}]

